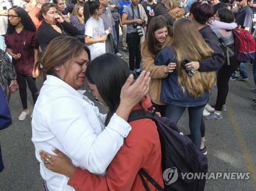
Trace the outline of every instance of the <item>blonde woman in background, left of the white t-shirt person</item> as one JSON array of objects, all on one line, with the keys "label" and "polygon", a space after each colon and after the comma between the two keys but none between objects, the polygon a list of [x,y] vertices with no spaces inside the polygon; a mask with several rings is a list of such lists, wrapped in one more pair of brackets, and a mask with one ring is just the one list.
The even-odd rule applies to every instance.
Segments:
[{"label": "blonde woman in background, left of the white t-shirt person", "polygon": [[82,43],[84,43],[84,17],[83,17],[83,4],[77,3],[73,9],[72,15],[70,16],[72,24],[78,29],[78,38]]}]

